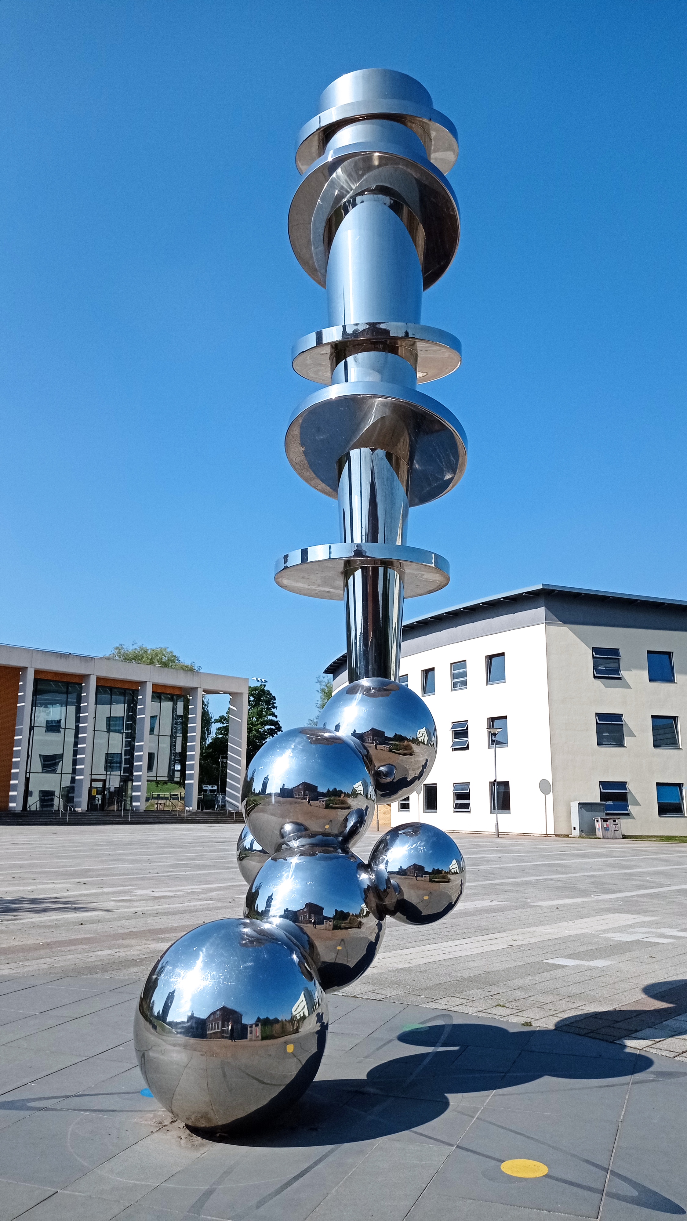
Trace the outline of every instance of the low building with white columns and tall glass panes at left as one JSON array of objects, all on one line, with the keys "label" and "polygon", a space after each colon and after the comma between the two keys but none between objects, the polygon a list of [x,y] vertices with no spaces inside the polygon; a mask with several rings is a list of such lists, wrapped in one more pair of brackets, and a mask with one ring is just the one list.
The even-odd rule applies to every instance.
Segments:
[{"label": "low building with white columns and tall glass panes at left", "polygon": [[219,694],[238,810],[248,679],[0,645],[0,812],[196,810],[203,695]]}]

